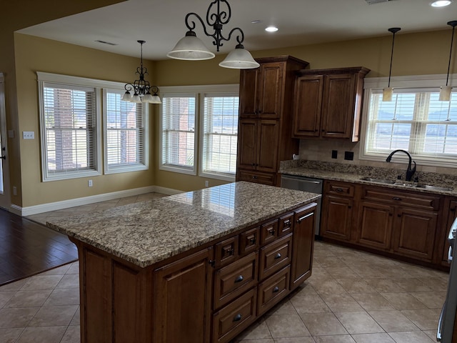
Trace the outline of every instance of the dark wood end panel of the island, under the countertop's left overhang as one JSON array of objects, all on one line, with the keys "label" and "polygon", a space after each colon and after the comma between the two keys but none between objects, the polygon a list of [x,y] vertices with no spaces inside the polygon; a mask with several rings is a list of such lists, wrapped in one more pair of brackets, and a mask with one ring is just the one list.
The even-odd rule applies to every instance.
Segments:
[{"label": "dark wood end panel of the island, under the countertop's left overhang", "polygon": [[151,342],[151,273],[70,240],[79,254],[81,343]]}]

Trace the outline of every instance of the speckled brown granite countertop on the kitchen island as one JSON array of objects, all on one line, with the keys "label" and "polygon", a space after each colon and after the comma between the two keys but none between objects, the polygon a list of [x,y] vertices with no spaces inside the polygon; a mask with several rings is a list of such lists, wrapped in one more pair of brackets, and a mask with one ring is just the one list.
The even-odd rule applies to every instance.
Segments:
[{"label": "speckled brown granite countertop on the kitchen island", "polygon": [[234,182],[53,219],[47,226],[139,267],[316,201],[321,195]]}]

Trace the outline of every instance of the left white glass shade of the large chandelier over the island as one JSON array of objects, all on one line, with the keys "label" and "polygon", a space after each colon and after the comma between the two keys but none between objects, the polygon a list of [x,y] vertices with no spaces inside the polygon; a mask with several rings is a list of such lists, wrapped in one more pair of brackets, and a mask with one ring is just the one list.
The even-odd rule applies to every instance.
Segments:
[{"label": "left white glass shade of the large chandelier over the island", "polygon": [[194,31],[187,31],[186,36],[181,38],[166,56],[171,59],[201,61],[213,59],[216,55],[206,48],[203,41],[196,36]]}]

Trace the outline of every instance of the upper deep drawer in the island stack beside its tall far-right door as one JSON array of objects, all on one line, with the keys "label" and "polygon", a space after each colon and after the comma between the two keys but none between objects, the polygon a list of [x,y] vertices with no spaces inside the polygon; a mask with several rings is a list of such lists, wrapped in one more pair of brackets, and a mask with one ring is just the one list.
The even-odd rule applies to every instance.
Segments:
[{"label": "upper deep drawer in the island stack beside its tall far-right door", "polygon": [[292,235],[268,244],[260,250],[259,277],[265,279],[291,263]]}]

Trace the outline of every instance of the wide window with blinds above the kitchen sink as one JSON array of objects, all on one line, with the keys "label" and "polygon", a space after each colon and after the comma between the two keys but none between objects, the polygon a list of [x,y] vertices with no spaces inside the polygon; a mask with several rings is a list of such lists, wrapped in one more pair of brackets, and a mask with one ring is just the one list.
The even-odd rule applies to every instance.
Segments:
[{"label": "wide window with blinds above the kitchen sink", "polygon": [[382,101],[382,89],[369,89],[361,158],[385,161],[391,151],[404,149],[421,164],[455,165],[457,94],[451,101],[438,96],[438,87],[398,87],[392,101]]}]

